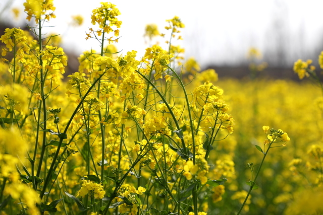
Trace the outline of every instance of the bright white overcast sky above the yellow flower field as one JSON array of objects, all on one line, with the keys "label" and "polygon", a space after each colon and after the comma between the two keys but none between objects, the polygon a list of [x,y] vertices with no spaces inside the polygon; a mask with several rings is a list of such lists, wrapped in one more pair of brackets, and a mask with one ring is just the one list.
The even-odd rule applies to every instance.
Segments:
[{"label": "bright white overcast sky above the yellow flower field", "polygon": [[[5,2],[7,0],[0,0],[0,8]],[[23,2],[13,1],[12,6],[23,10]],[[93,27],[91,11],[99,7],[100,2],[102,0],[53,1],[57,18],[50,21],[51,26],[56,26],[50,32],[62,35],[65,49],[74,50],[77,54],[91,48],[99,50],[97,41],[84,38],[85,31]],[[319,45],[323,50],[321,0],[119,0],[112,3],[122,13],[119,16],[123,22],[120,29],[122,37],[117,46],[123,49],[124,54],[137,50],[138,56],[142,56],[148,46],[143,38],[145,25],[155,23],[160,32],[166,32],[165,20],[174,16],[179,16],[185,24],[182,30],[184,40],[179,43],[186,50],[185,56],[194,56],[202,66],[212,62],[237,64],[245,59],[251,46],[272,51],[274,55],[276,46],[284,46],[288,51],[287,60],[291,62],[307,58],[313,49],[319,49]],[[79,14],[84,17],[84,24],[78,28],[71,27],[71,17]],[[23,25],[26,23],[25,15],[22,17],[20,24]],[[12,20],[12,15],[3,14],[2,19],[6,18]],[[283,42],[277,42],[281,37],[273,26],[278,26],[283,32]]]}]

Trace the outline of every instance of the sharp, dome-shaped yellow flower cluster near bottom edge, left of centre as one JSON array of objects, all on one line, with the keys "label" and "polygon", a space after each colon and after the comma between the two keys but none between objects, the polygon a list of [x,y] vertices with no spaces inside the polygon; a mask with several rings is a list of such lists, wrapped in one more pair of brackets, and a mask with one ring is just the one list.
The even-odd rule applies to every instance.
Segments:
[{"label": "sharp, dome-shaped yellow flower cluster near bottom edge, left of centre", "polygon": [[94,181],[83,180],[81,189],[77,192],[77,196],[84,197],[86,194],[93,194],[94,198],[103,198],[105,191],[103,190],[102,184],[97,184]]}]

